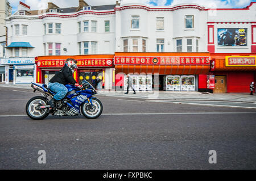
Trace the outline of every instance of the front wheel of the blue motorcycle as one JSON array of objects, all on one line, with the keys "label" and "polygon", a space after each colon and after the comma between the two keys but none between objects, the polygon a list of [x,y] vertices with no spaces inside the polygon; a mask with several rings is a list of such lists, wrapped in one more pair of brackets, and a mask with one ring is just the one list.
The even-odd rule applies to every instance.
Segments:
[{"label": "front wheel of the blue motorcycle", "polygon": [[90,107],[89,103],[84,103],[81,106],[82,115],[88,119],[96,119],[101,115],[103,111],[103,106],[100,100],[97,98],[92,99],[93,106]]}]

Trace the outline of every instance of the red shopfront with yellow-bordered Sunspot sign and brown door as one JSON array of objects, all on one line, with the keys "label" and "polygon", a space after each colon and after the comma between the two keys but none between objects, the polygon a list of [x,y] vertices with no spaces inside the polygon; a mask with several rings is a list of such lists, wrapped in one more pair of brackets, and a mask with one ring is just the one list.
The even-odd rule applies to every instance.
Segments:
[{"label": "red shopfront with yellow-bordered Sunspot sign and brown door", "polygon": [[256,81],[255,53],[211,53],[210,56],[214,93],[250,92],[250,83]]}]

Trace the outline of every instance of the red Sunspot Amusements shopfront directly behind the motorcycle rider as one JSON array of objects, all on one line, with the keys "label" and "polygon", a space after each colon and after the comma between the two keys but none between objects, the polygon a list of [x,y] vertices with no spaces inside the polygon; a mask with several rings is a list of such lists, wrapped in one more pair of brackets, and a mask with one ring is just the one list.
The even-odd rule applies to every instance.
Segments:
[{"label": "red Sunspot Amusements shopfront directly behind the motorcycle rider", "polygon": [[78,69],[73,73],[77,82],[86,79],[94,83],[100,78],[101,88],[111,80],[105,79],[106,70],[113,68],[113,55],[82,55],[82,56],[40,56],[36,57],[36,82],[48,83],[55,73],[65,64],[67,58],[74,58],[77,61]]}]

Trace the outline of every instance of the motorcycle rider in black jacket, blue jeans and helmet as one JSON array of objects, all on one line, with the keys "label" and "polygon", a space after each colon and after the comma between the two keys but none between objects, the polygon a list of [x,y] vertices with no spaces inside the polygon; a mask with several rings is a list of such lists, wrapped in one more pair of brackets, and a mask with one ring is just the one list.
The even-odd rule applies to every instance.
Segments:
[{"label": "motorcycle rider in black jacket, blue jeans and helmet", "polygon": [[55,107],[56,102],[63,99],[68,93],[68,89],[64,85],[70,83],[80,89],[82,88],[82,85],[79,85],[73,78],[74,69],[77,68],[76,64],[77,61],[75,59],[68,58],[65,61],[63,68],[49,80],[48,88],[51,91],[56,92],[53,98],[49,101],[51,107]]}]

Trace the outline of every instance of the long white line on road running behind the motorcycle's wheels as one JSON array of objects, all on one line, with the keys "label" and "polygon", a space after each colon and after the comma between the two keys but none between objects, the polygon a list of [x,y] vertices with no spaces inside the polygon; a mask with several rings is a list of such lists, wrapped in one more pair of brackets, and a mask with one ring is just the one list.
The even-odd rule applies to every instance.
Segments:
[{"label": "long white line on road running behind the motorcycle's wheels", "polygon": [[[102,116],[126,115],[213,115],[213,114],[249,114],[256,112],[148,112],[148,113],[102,113]],[[23,117],[27,115],[0,115],[0,117]],[[72,117],[72,116],[71,116]]]}]

